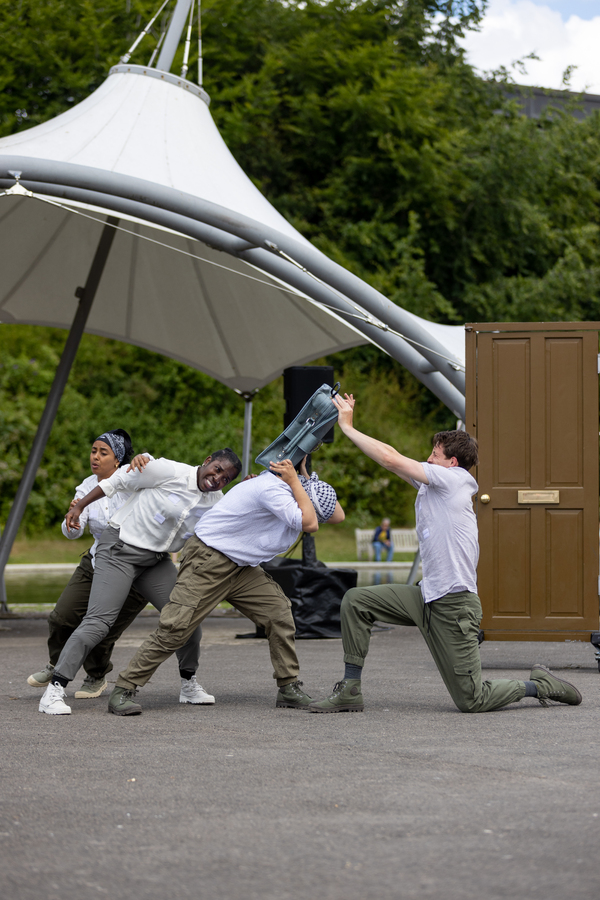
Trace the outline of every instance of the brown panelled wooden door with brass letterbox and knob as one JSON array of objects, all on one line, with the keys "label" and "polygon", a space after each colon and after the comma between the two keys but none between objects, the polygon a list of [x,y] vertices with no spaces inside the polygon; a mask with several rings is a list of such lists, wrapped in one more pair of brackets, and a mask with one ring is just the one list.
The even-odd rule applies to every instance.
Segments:
[{"label": "brown panelled wooden door with brass letterbox and knob", "polygon": [[588,641],[598,629],[599,328],[467,326],[488,639]]}]

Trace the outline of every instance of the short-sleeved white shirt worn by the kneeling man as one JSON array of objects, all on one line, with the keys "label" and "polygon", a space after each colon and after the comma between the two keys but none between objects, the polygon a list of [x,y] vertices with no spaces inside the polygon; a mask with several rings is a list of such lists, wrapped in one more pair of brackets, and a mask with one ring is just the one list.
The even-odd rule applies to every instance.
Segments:
[{"label": "short-sleeved white shirt worn by the kneeling man", "polygon": [[457,591],[476,594],[479,540],[471,497],[477,482],[460,466],[422,465],[429,484],[411,484],[419,489],[415,511],[423,599],[431,603]]}]

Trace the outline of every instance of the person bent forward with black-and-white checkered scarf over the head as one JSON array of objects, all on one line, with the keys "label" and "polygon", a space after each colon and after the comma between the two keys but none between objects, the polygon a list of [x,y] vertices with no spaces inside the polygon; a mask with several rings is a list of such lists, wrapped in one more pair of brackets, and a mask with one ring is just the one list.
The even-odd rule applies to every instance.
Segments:
[{"label": "person bent forward with black-and-white checkered scarf over the head", "polygon": [[311,698],[298,681],[291,603],[260,563],[287,550],[300,531],[315,532],[319,522],[343,519],[331,485],[314,476],[301,480],[290,460],[271,463],[270,472],[229,491],[196,525],[159,626],[117,678],[109,711],[118,716],[141,713],[137,688],[224,600],[265,629],[279,688],[275,705],[306,709]]}]

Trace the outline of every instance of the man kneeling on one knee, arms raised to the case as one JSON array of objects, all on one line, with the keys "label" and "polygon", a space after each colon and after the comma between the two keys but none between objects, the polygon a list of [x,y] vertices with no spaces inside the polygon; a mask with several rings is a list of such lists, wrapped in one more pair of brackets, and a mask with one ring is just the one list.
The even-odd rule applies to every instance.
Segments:
[{"label": "man kneeling on one knee, arms raised to the case", "polygon": [[478,462],[477,441],[465,431],[443,431],[433,438],[427,462],[398,453],[388,444],[354,428],[354,399],[333,399],[344,434],[367,456],[418,489],[415,501],[423,579],[420,585],[353,588],[341,607],[344,678],[310,712],[362,712],[361,676],[376,621],[416,625],[461,712],[500,709],[523,697],[581,703],[573,685],[544,666],[531,670],[529,681],[481,680],[477,596],[479,543],[472,497],[478,487],[469,469]]}]

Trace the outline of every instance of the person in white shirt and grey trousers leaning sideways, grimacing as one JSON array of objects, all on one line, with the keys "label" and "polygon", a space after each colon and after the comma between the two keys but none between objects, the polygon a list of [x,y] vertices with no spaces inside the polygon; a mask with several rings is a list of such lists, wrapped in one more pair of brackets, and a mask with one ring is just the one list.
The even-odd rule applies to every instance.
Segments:
[{"label": "person in white shirt and grey trousers leaning sideways, grimacing", "polygon": [[[64,702],[65,688],[90,650],[108,633],[132,585],[158,608],[167,603],[177,577],[170,554],[181,550],[196,523],[221,500],[222,488],[239,475],[241,467],[229,448],[212,453],[201,466],[151,460],[141,472],[117,469],[69,510],[67,528],[77,528],[90,503],[118,491],[131,495],[98,541],[87,614],[60,654],[40,700],[40,712],[71,712]],[[197,684],[191,665],[190,669],[180,668],[180,674],[181,702],[214,703],[214,697]]]}]

